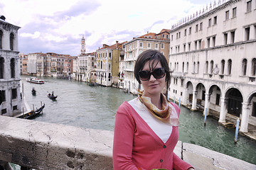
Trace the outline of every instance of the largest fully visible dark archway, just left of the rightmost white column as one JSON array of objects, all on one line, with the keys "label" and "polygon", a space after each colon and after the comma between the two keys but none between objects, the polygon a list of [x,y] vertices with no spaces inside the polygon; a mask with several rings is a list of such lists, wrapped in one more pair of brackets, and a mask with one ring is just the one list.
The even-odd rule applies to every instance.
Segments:
[{"label": "largest fully visible dark archway, just left of the rightmost white column", "polygon": [[235,87],[230,87],[225,92],[225,98],[228,98],[228,113],[240,117],[243,103],[243,97],[240,90]]}]

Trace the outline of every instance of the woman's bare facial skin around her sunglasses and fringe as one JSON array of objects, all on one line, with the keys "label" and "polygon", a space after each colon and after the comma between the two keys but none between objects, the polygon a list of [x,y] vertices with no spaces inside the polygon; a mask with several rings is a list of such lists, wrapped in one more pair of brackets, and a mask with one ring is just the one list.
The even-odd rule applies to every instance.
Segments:
[{"label": "woman's bare facial skin around her sunglasses and fringe", "polygon": [[[149,66],[151,66],[151,62],[153,61],[148,61],[144,64],[143,71],[152,71],[150,70]],[[156,64],[157,63],[157,64]],[[154,63],[153,69],[158,69],[161,68],[161,63],[156,62]],[[152,69],[152,68],[151,68]],[[166,75],[162,77],[161,79],[156,79],[152,74],[149,78],[149,80],[142,81],[142,86],[144,89],[144,96],[148,97],[153,97],[153,96],[158,96],[161,94],[162,89],[164,89],[164,86],[166,85]]]}]

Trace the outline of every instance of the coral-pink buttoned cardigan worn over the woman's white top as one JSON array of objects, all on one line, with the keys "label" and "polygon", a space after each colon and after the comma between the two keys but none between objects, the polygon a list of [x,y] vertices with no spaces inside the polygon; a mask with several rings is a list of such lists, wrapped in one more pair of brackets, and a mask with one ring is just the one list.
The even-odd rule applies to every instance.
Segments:
[{"label": "coral-pink buttoned cardigan worn over the woman's white top", "polygon": [[[172,105],[179,115],[178,106]],[[183,170],[192,167],[174,154],[177,142],[178,126],[173,126],[171,136],[164,143],[125,101],[119,106],[114,123],[114,170]]]}]

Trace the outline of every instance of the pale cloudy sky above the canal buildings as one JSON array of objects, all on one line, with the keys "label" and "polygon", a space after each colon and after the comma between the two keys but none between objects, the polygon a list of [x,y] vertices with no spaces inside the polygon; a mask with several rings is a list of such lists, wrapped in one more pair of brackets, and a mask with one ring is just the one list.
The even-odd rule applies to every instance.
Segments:
[{"label": "pale cloudy sky above the canal buildings", "polygon": [[[160,33],[202,10],[209,0],[1,0],[0,16],[21,27],[18,51],[80,55],[103,44]],[[212,2],[213,3],[213,2]]]}]

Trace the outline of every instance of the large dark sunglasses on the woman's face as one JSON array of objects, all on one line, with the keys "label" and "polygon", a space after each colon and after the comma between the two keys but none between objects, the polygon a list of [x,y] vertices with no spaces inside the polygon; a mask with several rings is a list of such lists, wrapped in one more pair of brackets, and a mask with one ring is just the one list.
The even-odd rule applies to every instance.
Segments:
[{"label": "large dark sunglasses on the woman's face", "polygon": [[139,79],[142,81],[149,80],[151,75],[154,76],[156,79],[161,79],[165,76],[165,69],[163,67],[158,69],[153,69],[152,71],[142,70],[139,71]]}]

